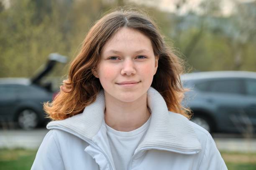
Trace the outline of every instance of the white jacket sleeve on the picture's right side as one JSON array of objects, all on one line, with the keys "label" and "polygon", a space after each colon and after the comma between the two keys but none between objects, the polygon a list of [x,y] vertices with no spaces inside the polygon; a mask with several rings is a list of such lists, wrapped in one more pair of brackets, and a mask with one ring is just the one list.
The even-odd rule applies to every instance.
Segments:
[{"label": "white jacket sleeve on the picture's right side", "polygon": [[228,170],[212,136],[208,134],[199,170]]}]

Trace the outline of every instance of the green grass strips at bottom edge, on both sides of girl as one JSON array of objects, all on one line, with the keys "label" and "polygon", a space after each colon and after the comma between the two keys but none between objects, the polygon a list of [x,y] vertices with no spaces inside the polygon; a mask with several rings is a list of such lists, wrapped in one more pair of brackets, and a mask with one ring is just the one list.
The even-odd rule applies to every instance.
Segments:
[{"label": "green grass strips at bottom edge, on both sides of girl", "polygon": [[[36,150],[0,149],[0,169],[30,170]],[[256,170],[256,153],[221,152],[228,170]]]}]

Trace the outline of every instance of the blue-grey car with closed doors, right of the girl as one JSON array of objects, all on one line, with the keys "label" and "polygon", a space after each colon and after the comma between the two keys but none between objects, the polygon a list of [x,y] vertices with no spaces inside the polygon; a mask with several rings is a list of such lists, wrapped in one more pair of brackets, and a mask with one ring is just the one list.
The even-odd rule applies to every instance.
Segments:
[{"label": "blue-grey car with closed doors, right of the girl", "polygon": [[181,76],[192,121],[210,133],[256,132],[256,72],[195,72]]}]

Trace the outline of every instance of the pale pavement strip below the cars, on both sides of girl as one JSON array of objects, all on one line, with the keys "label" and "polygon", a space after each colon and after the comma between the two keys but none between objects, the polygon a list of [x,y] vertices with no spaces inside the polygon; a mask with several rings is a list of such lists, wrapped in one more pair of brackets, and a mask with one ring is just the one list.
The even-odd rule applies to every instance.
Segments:
[{"label": "pale pavement strip below the cars, on both sides of girl", "polygon": [[[49,130],[0,130],[0,148],[38,149]],[[226,138],[225,138],[226,137]],[[213,134],[220,151],[256,153],[256,138]]]}]

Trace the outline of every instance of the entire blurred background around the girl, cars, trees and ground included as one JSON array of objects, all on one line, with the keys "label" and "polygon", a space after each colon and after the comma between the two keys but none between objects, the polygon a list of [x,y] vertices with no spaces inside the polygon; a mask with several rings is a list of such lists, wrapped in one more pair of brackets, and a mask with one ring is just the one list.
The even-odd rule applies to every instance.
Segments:
[{"label": "entire blurred background around the girl, cars, trees and ground included", "polygon": [[256,169],[256,0],[0,0],[0,169],[30,169],[51,101],[93,23],[138,7],[184,60],[184,106],[229,169]]}]

